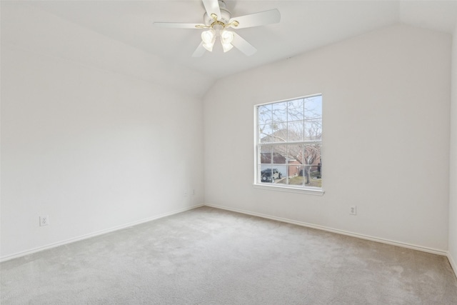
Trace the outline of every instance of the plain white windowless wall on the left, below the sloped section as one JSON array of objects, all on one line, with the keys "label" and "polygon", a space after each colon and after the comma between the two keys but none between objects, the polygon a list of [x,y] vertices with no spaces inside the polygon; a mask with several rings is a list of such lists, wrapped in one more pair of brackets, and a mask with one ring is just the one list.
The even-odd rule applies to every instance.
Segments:
[{"label": "plain white windowless wall on the left, below the sloped section", "polygon": [[[2,17],[7,13],[2,6]],[[86,29],[47,41],[61,54],[47,52],[52,45],[11,41],[33,31],[16,17],[17,26],[2,20],[1,258],[201,204],[201,98],[91,66],[84,51],[83,64],[66,58],[66,41],[90,47],[79,38],[95,35]],[[54,21],[62,32],[74,26]],[[96,54],[113,55],[114,41],[93,40]],[[196,194],[184,196],[191,189]],[[49,215],[49,226],[39,226],[40,215]]]}]

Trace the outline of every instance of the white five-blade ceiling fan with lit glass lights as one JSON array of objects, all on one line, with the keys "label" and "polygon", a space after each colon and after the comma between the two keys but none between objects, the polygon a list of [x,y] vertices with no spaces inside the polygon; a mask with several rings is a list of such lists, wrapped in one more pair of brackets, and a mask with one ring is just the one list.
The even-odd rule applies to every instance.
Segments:
[{"label": "white five-blade ceiling fan with lit glass lights", "polygon": [[154,22],[156,26],[166,28],[181,29],[206,29],[201,33],[201,43],[192,54],[193,57],[202,56],[205,51],[213,51],[216,37],[220,37],[222,49],[224,52],[230,51],[233,46],[236,49],[251,56],[256,53],[248,41],[236,34],[232,29],[245,29],[253,26],[264,26],[266,24],[276,24],[281,20],[281,14],[277,9],[261,11],[259,13],[249,14],[239,17],[231,17],[231,12],[226,9],[226,4],[222,0],[202,0],[206,13],[203,16],[203,24],[181,24],[176,22]]}]

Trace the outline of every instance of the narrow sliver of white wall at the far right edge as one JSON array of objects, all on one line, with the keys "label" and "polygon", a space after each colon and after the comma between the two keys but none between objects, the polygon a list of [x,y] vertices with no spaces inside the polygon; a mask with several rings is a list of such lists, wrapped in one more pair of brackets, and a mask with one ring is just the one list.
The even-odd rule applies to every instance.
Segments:
[{"label": "narrow sliver of white wall at the far right edge", "polygon": [[451,166],[449,189],[449,254],[457,274],[457,26],[452,44]]}]

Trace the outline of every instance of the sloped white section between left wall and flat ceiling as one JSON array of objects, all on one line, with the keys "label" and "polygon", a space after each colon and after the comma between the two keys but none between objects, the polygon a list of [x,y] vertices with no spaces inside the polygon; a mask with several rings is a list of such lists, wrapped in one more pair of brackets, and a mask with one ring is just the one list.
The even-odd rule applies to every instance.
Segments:
[{"label": "sloped white section between left wall and flat ceiling", "polygon": [[21,49],[134,76],[193,96],[203,95],[212,84],[209,76],[109,39],[30,6],[28,1],[1,1],[1,41]]}]

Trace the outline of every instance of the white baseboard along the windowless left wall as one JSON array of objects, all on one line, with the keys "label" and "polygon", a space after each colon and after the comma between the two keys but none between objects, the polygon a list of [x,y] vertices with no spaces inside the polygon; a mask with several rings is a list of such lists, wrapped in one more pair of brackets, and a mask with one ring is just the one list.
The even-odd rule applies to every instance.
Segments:
[{"label": "white baseboard along the windowless left wall", "polygon": [[114,226],[114,227],[111,227],[109,229],[96,231],[96,232],[89,233],[89,234],[84,234],[84,235],[81,235],[81,236],[74,237],[72,239],[66,239],[64,241],[58,241],[56,243],[47,244],[46,246],[39,246],[39,247],[34,248],[34,249],[21,251],[21,252],[18,252],[16,254],[11,254],[11,255],[8,255],[8,256],[3,256],[3,257],[0,257],[0,262],[1,261],[9,261],[10,259],[16,259],[18,257],[26,256],[26,255],[29,255],[29,254],[34,254],[34,253],[39,252],[39,251],[55,248],[56,246],[62,246],[64,244],[70,244],[70,243],[73,243],[75,241],[81,241],[83,239],[90,239],[91,237],[94,237],[94,236],[99,236],[99,235],[110,233],[110,232],[113,232],[113,231],[118,231],[118,230],[121,230],[121,229],[129,228],[131,226],[136,226],[137,224],[144,224],[145,222],[148,222],[148,221],[153,221],[153,220],[156,220],[156,219],[164,218],[166,216],[179,214],[179,213],[182,213],[184,211],[189,211],[191,209],[199,208],[201,206],[204,206],[204,204],[198,204],[196,206],[189,206],[189,207],[186,207],[184,209],[179,209],[179,210],[176,210],[176,211],[171,211],[169,213],[164,213],[164,214],[160,214],[160,215],[157,215],[157,216],[148,217],[148,218],[145,218],[145,219],[141,219],[139,221],[133,221],[133,222],[130,222],[129,224],[122,224],[121,226]]}]

